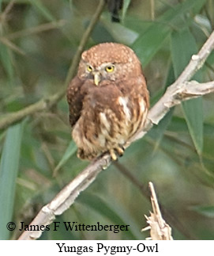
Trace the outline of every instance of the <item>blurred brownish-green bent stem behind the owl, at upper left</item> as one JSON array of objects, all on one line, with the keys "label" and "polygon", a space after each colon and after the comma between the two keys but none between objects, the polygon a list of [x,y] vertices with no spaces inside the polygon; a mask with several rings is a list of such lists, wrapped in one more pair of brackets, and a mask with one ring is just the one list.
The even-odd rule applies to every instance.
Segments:
[{"label": "blurred brownish-green bent stem behind the owl, at upper left", "polygon": [[24,119],[24,117],[31,116],[33,113],[51,109],[53,105],[57,104],[58,101],[60,101],[62,97],[64,97],[64,95],[66,94],[68,83],[71,80],[71,78],[73,78],[75,71],[77,69],[77,65],[81,58],[81,52],[83,52],[84,46],[87,43],[88,38],[90,37],[97,21],[99,20],[99,17],[103,11],[104,6],[105,2],[103,0],[100,0],[99,6],[97,7],[96,12],[92,17],[92,20],[88,25],[88,28],[85,30],[81,38],[81,42],[77,48],[77,52],[73,57],[72,63],[69,67],[69,71],[66,76],[66,82],[63,88],[61,90],[58,90],[56,94],[53,94],[50,97],[43,98],[42,100],[37,101],[36,103],[29,105],[28,107],[21,109],[20,111],[9,113],[8,115],[6,115],[6,117],[2,117],[2,119],[0,120],[0,129],[7,128],[9,125],[17,123],[18,121]]}]

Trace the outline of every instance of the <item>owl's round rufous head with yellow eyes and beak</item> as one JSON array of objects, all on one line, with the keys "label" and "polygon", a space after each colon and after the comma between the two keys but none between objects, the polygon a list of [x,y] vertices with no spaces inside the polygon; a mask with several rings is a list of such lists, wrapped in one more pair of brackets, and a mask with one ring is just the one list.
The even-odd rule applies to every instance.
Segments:
[{"label": "owl's round rufous head with yellow eyes and beak", "polygon": [[132,49],[123,44],[104,43],[81,55],[78,77],[93,79],[98,86],[103,80],[122,81],[141,74],[141,63]]}]

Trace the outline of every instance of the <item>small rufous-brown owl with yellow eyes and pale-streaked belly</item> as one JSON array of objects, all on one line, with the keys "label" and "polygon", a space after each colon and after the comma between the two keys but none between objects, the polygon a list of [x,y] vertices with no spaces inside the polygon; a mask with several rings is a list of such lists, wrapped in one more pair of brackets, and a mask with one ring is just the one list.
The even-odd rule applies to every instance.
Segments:
[{"label": "small rufous-brown owl with yellow eyes and pale-streaked belly", "polygon": [[80,159],[108,151],[116,160],[143,128],[149,96],[141,63],[123,44],[97,44],[81,55],[67,90],[69,123]]}]

